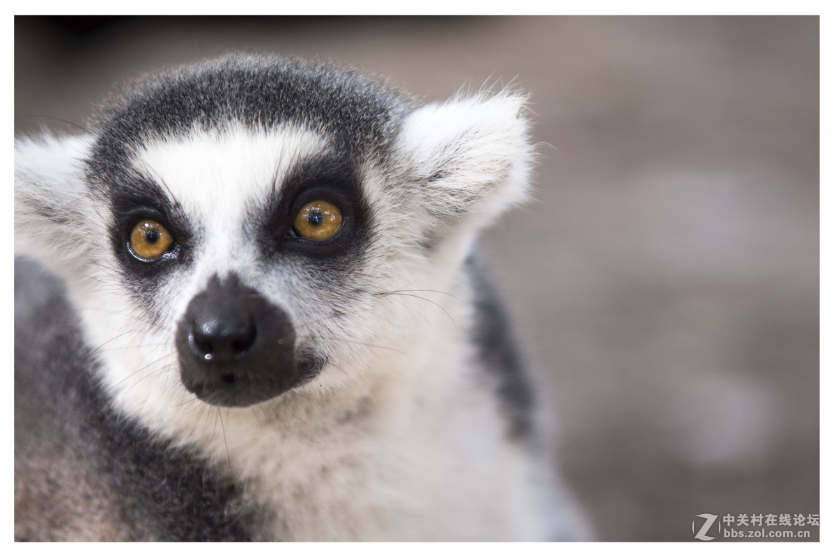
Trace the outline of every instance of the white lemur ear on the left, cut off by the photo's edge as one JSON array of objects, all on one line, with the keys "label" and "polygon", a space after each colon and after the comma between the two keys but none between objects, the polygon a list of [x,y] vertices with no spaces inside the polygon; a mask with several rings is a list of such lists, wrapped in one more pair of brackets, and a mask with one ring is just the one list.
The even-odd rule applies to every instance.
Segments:
[{"label": "white lemur ear on the left, cut off by the photo's edge", "polygon": [[94,211],[81,170],[89,138],[15,139],[15,254],[72,277],[90,261]]}]

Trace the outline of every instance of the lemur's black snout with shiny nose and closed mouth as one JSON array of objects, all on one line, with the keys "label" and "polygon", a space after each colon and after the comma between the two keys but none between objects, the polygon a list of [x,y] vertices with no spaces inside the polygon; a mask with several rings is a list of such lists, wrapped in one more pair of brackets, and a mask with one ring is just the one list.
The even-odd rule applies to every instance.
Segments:
[{"label": "lemur's black snout with shiny nose and closed mouth", "polygon": [[237,276],[214,276],[177,327],[183,385],[214,406],[247,407],[308,382],[324,366],[297,351],[288,314]]}]

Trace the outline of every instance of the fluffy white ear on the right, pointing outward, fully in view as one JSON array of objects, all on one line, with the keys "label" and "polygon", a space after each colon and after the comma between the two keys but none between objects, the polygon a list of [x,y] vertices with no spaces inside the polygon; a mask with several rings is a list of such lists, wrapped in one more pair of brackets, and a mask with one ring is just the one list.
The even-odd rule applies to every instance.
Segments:
[{"label": "fluffy white ear on the right, pointing outward, fully in view", "polygon": [[525,199],[533,160],[526,101],[521,94],[480,94],[406,117],[395,149],[422,227],[437,235],[464,221],[475,232]]}]

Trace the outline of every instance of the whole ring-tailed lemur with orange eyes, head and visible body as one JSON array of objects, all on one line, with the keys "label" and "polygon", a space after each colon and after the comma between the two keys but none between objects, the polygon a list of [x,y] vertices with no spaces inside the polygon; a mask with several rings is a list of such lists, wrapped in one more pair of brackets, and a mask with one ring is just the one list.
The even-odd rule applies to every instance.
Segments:
[{"label": "whole ring-tailed lemur with orange eyes, head and visible body", "polygon": [[582,535],[474,249],[527,130],[231,55],[18,139],[18,253],[71,305],[20,267],[16,537]]}]

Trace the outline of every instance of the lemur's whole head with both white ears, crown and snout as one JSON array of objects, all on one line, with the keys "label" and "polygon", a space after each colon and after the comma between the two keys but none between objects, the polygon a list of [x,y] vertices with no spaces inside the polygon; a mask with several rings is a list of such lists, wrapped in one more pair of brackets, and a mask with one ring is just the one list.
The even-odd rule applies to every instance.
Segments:
[{"label": "lemur's whole head with both white ears, crown and snout", "polygon": [[525,195],[524,101],[421,106],[280,58],[179,68],[89,134],[18,140],[18,251],[68,279],[112,386],[245,407],[345,384],[423,318],[385,295],[449,290]]}]

